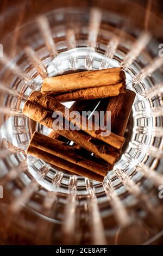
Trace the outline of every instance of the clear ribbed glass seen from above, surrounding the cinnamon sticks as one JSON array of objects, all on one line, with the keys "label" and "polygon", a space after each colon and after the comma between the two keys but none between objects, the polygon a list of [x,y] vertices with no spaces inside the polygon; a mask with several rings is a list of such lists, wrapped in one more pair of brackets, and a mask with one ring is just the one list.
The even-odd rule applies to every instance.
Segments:
[{"label": "clear ribbed glass seen from above, surrounding the cinnamon sticks", "polygon": [[[20,237],[18,243],[24,239],[35,244],[151,243],[163,224],[158,196],[163,185],[163,57],[156,30],[147,32],[131,17],[95,8],[56,9],[35,18],[18,27],[14,54],[8,46],[14,32],[3,38],[4,241],[11,232]],[[127,88],[136,97],[123,154],[103,183],[62,172],[26,154],[35,130],[45,135],[51,131],[22,114],[24,102],[39,90],[43,78],[118,66],[124,68]]]}]

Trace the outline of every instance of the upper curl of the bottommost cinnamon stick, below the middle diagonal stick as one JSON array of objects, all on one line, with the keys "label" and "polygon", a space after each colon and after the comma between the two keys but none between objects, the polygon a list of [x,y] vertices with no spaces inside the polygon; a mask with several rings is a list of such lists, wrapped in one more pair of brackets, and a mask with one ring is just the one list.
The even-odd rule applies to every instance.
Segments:
[{"label": "upper curl of the bottommost cinnamon stick, below the middle diagonal stick", "polygon": [[[29,147],[40,149],[49,154],[65,159],[79,166],[82,166],[92,172],[105,176],[108,173],[108,168],[92,160],[91,156],[82,157],[80,150],[74,149],[64,142],[57,139],[49,138],[39,132],[34,132],[30,141]],[[27,149],[28,153],[28,149]]]}]

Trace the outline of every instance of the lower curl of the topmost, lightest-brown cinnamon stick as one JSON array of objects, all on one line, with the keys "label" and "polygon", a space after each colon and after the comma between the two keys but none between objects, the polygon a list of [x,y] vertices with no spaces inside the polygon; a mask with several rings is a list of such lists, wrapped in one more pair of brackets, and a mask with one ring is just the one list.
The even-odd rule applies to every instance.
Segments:
[{"label": "lower curl of the topmost, lightest-brown cinnamon stick", "polygon": [[100,86],[86,89],[73,90],[72,92],[53,95],[59,102],[75,100],[102,99],[105,97],[116,96],[126,92],[124,82],[114,84],[113,86]]}]

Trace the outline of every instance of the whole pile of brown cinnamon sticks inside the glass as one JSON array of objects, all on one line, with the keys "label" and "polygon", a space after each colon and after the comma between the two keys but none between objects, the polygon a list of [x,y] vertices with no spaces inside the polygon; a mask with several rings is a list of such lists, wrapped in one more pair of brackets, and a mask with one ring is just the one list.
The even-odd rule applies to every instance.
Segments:
[{"label": "whole pile of brown cinnamon sticks inside the glass", "polygon": [[[106,98],[106,111],[111,111],[110,135],[102,136],[99,130],[89,130],[82,123],[76,124],[77,130],[65,129],[64,125],[73,120],[71,115],[67,118],[66,107],[60,102],[76,101],[70,112],[76,110],[81,113],[83,110],[93,110],[102,98]],[[27,153],[62,170],[103,181],[121,155],[134,98],[135,94],[126,90],[125,75],[121,68],[45,78],[41,92],[30,94],[23,113],[51,129],[55,120],[53,113],[61,113],[65,122],[59,130],[53,130],[48,136],[35,132]],[[107,115],[104,121],[106,118]],[[87,119],[85,121],[87,124]],[[73,147],[67,144],[70,141],[74,142]]]}]

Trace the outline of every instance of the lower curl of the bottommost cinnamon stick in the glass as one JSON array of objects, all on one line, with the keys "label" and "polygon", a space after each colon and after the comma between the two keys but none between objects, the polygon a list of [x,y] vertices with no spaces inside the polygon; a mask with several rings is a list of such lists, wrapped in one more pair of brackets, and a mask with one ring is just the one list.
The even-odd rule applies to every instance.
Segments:
[{"label": "lower curl of the bottommost cinnamon stick in the glass", "polygon": [[77,166],[77,164],[68,162],[64,159],[61,159],[58,156],[54,156],[52,154],[49,154],[45,151],[42,151],[40,149],[34,148],[32,146],[29,146],[28,148],[28,154],[38,157],[39,159],[42,159],[43,161],[53,164],[54,166],[58,166],[62,169],[68,170],[69,172],[78,174],[78,175],[82,175],[82,176],[86,176],[89,179],[93,179],[93,180],[97,180],[102,182],[104,177],[97,174],[97,173],[93,173],[90,170],[88,171],[86,168],[81,167],[81,166]]}]

